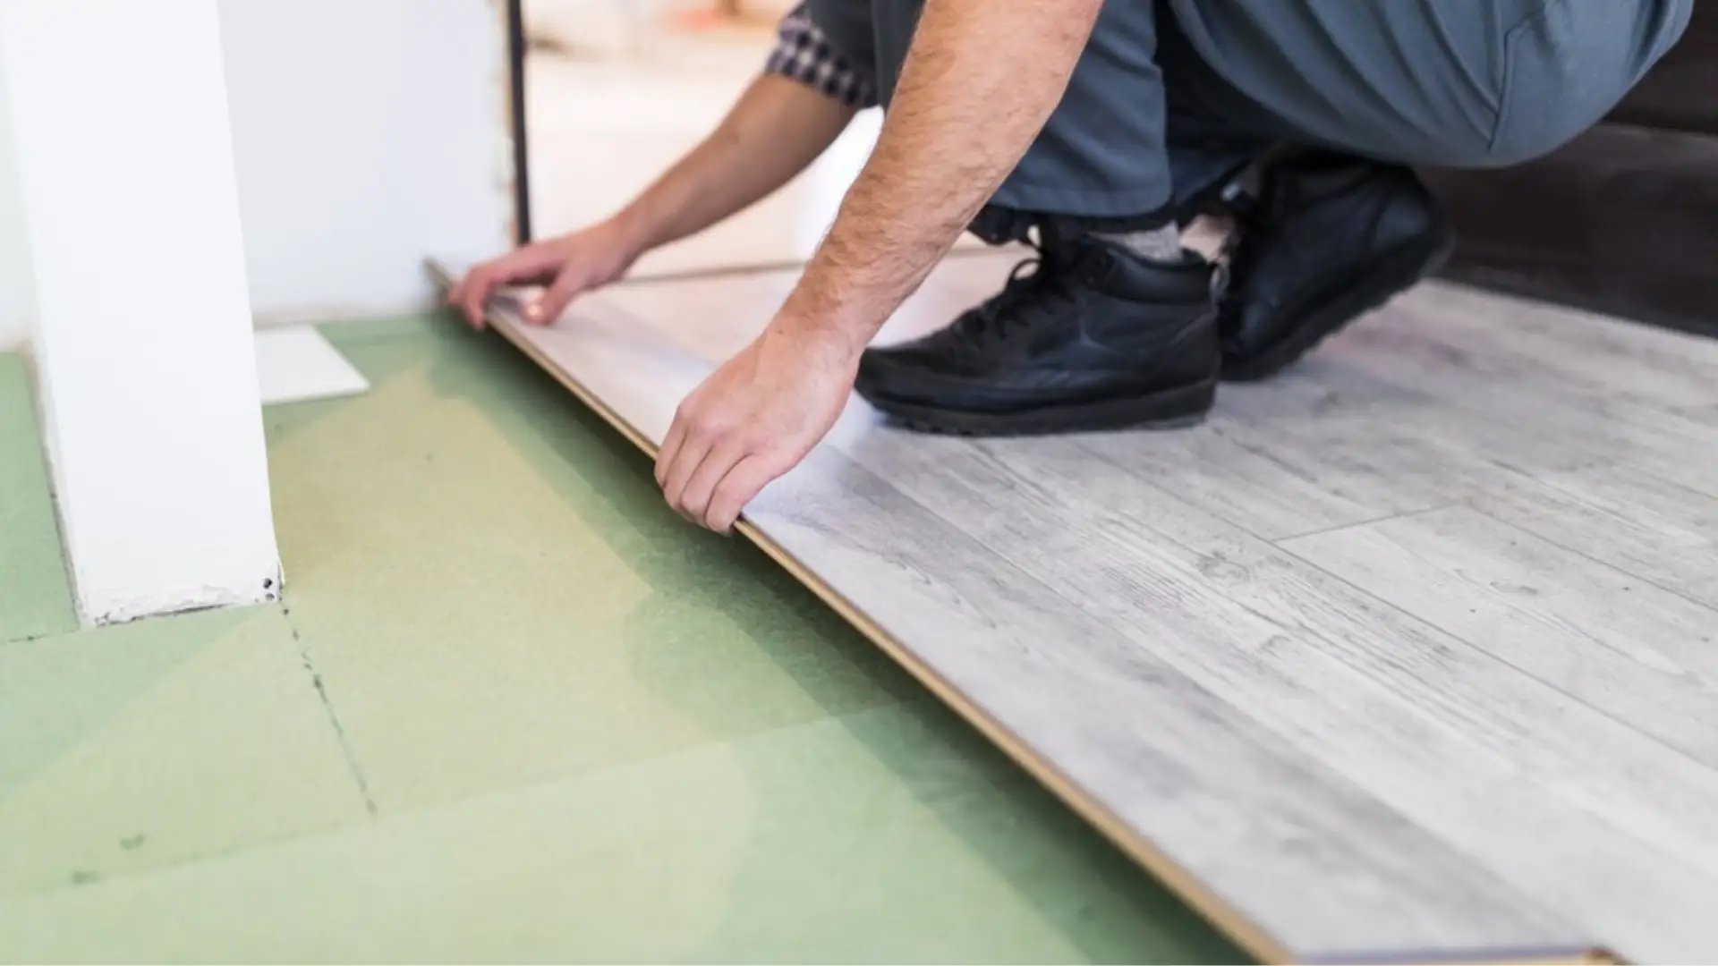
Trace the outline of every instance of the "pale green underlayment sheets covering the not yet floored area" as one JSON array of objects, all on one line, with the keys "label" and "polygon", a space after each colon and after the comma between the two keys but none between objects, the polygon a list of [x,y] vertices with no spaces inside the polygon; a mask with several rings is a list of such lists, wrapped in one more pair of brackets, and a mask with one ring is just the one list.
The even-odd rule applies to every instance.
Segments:
[{"label": "pale green underlayment sheets covering the not yet floored area", "polygon": [[103,631],[0,364],[0,961],[1240,957],[498,339],[326,332],[285,607]]}]

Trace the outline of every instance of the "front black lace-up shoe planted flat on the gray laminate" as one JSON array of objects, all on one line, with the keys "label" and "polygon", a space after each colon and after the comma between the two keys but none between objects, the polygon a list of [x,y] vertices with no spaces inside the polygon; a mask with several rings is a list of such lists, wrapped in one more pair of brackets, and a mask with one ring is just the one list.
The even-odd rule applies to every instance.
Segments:
[{"label": "front black lace-up shoe planted flat on the gray laminate", "polygon": [[1051,234],[1002,292],[947,328],[868,349],[854,388],[936,433],[1196,425],[1218,382],[1213,277],[1192,253],[1158,265]]}]

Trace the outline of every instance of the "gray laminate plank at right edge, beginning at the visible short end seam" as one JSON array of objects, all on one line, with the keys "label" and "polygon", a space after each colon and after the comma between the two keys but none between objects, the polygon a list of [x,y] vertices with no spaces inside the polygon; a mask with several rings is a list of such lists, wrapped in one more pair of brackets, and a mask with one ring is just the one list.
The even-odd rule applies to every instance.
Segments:
[{"label": "gray laminate plank at right edge, beginning at the visible short end seam", "polygon": [[1282,547],[1718,765],[1718,610],[1471,507]]}]

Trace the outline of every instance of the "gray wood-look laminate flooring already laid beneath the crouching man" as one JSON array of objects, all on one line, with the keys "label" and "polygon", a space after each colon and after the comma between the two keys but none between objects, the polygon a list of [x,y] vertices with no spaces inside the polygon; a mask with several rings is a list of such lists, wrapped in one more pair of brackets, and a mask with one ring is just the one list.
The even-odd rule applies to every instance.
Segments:
[{"label": "gray wood-look laminate flooring already laid beneath the crouching man", "polygon": [[[497,321],[653,445],[790,285]],[[1718,957],[1718,342],[1428,284],[1196,430],[856,399],[747,521],[1261,956]]]}]

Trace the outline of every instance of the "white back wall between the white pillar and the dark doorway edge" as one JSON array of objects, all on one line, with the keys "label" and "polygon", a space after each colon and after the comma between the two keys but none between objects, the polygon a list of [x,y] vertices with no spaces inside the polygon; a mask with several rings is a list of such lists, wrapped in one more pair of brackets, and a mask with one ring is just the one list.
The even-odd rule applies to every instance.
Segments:
[{"label": "white back wall between the white pillar and the dark doorway edge", "polygon": [[220,17],[261,321],[416,309],[426,254],[510,244],[500,0],[220,0]]}]

